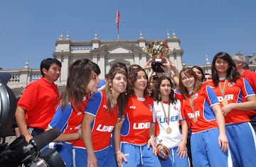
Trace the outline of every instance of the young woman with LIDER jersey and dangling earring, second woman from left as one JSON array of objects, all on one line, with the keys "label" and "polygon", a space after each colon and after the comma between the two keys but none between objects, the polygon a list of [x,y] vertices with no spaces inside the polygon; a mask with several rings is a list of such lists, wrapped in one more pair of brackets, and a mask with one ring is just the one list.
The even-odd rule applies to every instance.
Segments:
[{"label": "young woman with LIDER jersey and dangling earring, second woman from left", "polygon": [[[105,91],[93,93],[85,108],[82,120],[82,140],[85,143],[85,159],[77,166],[117,166],[110,139],[118,117],[124,113],[124,91],[127,73],[116,68],[107,75]],[[123,99],[119,99],[123,98]],[[123,103],[117,104],[117,101]]]}]

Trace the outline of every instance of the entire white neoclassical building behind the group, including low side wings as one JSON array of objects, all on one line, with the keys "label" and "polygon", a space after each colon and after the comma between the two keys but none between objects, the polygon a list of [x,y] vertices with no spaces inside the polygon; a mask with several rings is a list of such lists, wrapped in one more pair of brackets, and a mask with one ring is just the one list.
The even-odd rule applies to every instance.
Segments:
[{"label": "entire white neoclassical building behind the group, including low side wings", "polygon": [[[76,59],[81,58],[91,59],[92,62],[99,65],[101,70],[100,79],[105,77],[105,74],[109,71],[114,62],[123,62],[127,64],[127,67],[131,64],[139,64],[143,67],[151,57],[149,57],[142,48],[154,41],[156,40],[146,40],[142,35],[142,31],[139,32],[137,40],[100,40],[96,31],[92,40],[73,41],[70,40],[68,33],[65,37],[63,37],[63,33],[60,33],[58,40],[55,42],[53,57],[60,60],[62,69],[60,79],[58,79],[55,84],[57,84],[59,88],[63,88],[67,83],[68,66]],[[171,62],[178,70],[181,70],[183,67],[193,67],[193,65],[183,64],[181,40],[177,37],[174,30],[171,35],[167,31],[165,40],[157,41],[165,42],[169,46],[171,52],[166,55],[166,57],[171,59]],[[206,64],[195,65],[202,67],[205,73],[211,73],[211,64],[207,55]],[[256,55],[250,57],[250,70],[256,70]],[[23,88],[31,83],[31,81],[36,81],[41,77],[40,69],[29,68],[28,59],[23,69],[1,69],[0,72],[1,71],[11,74],[8,86],[12,88],[16,94],[21,93]]]}]

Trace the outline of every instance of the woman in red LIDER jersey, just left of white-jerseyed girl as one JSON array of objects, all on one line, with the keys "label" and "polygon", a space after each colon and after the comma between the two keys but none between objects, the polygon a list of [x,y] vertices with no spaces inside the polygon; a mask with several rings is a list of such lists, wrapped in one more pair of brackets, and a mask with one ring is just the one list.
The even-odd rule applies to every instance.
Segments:
[{"label": "woman in red LIDER jersey, just left of white-jerseyed girl", "polygon": [[154,146],[154,123],[152,122],[154,100],[146,96],[148,84],[146,72],[142,67],[132,69],[129,72],[128,81],[129,98],[124,119],[114,127],[117,165],[161,166]]}]

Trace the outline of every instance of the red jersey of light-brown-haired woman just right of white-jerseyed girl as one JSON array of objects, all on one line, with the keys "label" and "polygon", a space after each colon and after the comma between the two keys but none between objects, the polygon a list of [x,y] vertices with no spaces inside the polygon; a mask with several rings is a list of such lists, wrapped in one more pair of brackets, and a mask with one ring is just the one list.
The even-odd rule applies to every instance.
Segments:
[{"label": "red jersey of light-brown-haired woman just right of white-jerseyed girl", "polygon": [[178,91],[175,96],[182,102],[182,114],[186,117],[186,122],[192,133],[218,128],[215,113],[210,107],[219,102],[210,86],[202,86],[197,92],[186,98],[183,98]]}]

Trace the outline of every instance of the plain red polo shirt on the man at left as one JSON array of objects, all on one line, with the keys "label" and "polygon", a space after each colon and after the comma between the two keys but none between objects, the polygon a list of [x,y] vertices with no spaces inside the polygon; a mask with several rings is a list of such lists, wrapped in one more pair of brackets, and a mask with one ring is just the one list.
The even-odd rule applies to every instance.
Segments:
[{"label": "plain red polo shirt on the man at left", "polygon": [[46,129],[55,113],[59,97],[58,88],[41,77],[26,86],[17,106],[26,110],[28,127]]}]

